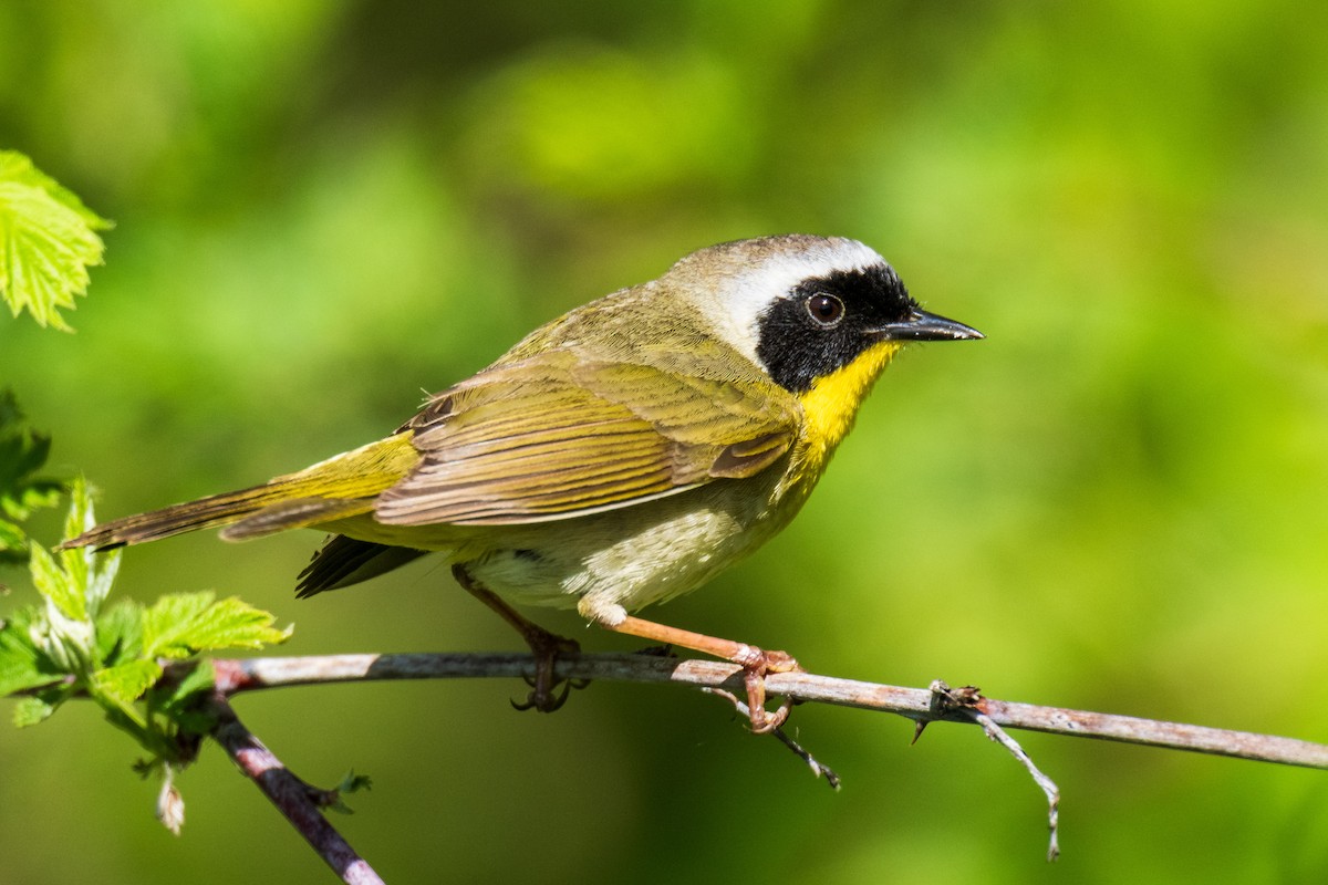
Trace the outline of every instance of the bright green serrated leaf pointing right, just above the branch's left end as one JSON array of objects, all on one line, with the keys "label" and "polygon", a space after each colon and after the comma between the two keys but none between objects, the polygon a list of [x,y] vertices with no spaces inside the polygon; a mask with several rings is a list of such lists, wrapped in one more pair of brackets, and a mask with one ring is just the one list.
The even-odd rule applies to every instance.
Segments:
[{"label": "bright green serrated leaf pointing right, just above the branch's left end", "polygon": [[173,593],[147,609],[143,618],[143,654],[187,658],[199,651],[260,649],[284,642],[290,628],[272,626],[276,616],[238,597],[212,601],[208,592]]}]

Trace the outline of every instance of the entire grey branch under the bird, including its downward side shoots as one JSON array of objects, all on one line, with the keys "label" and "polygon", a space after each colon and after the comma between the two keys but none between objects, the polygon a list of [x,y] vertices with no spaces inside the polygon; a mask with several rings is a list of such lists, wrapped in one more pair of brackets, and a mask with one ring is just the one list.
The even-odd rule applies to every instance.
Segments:
[{"label": "entire grey branch under the bird, including its downward side shoots", "polygon": [[[216,727],[212,730],[212,738],[282,809],[343,881],[368,885],[381,880],[323,817],[323,808],[335,800],[335,793],[313,789],[291,774],[244,728],[235,716],[228,698],[260,689],[328,682],[477,677],[529,679],[535,675],[535,659],[530,654],[509,653],[336,654],[295,658],[216,658],[212,661],[212,670],[216,681],[212,702]],[[720,661],[673,659],[641,654],[566,654],[558,658],[555,675],[559,679],[688,685],[724,697],[740,710],[742,702],[738,695],[745,695],[742,669]],[[1307,740],[996,701],[983,697],[971,686],[952,690],[939,679],[927,689],[904,689],[813,673],[778,673],[766,675],[766,693],[802,702],[895,713],[918,723],[915,740],[931,722],[964,722],[980,726],[988,738],[1001,743],[1028,770],[1045,793],[1050,831],[1048,860],[1054,860],[1060,851],[1057,845],[1060,791],[1004,728],[1328,768],[1328,746]],[[838,784],[838,776],[811,758],[791,738],[778,730],[776,736],[803,759],[813,772],[823,776],[831,785]]]}]

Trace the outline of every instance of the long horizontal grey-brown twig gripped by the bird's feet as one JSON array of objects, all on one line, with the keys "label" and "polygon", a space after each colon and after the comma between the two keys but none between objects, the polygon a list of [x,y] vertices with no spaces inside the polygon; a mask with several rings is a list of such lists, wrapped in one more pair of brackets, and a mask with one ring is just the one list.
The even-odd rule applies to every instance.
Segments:
[{"label": "long horizontal grey-brown twig gripped by the bird's feet", "polygon": [[[529,654],[339,654],[327,657],[250,658],[214,661],[216,687],[223,694],[288,685],[372,679],[444,679],[530,677]],[[559,658],[559,678],[614,682],[680,682],[697,687],[741,690],[741,669],[720,661],[669,659],[640,654],[580,654]],[[938,715],[932,693],[874,682],[857,682],[811,673],[773,673],[770,694],[865,710],[896,713],[914,720],[967,722],[967,711]],[[1005,728],[1024,728],[1076,738],[1167,747],[1238,759],[1328,768],[1328,746],[1247,731],[1159,722],[1084,710],[1044,707],[983,698],[975,707]]]}]

